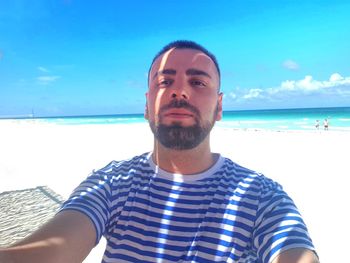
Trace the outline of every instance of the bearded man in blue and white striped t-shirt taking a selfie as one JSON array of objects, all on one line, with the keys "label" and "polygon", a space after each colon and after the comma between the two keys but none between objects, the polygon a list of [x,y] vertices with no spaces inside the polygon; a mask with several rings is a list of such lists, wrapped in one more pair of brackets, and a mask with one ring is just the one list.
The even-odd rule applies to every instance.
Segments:
[{"label": "bearded man in blue and white striped t-shirt taking a selfie", "polygon": [[170,43],[148,82],[153,152],[93,172],[0,261],[81,262],[103,235],[103,262],[318,262],[281,187],[211,152],[223,98],[215,57],[194,42]]}]

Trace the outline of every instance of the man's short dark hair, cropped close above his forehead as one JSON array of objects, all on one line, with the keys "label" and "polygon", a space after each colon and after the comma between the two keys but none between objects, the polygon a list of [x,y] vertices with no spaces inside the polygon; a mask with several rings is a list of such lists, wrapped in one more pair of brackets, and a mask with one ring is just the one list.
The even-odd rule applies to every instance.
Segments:
[{"label": "man's short dark hair, cropped close above his forehead", "polygon": [[[161,55],[163,55],[164,53],[166,53],[168,50],[172,49],[172,48],[175,48],[175,49],[194,49],[194,50],[199,50],[201,52],[203,52],[204,54],[206,54],[213,62],[214,62],[214,65],[218,71],[218,74],[219,74],[219,83],[220,83],[220,68],[219,68],[219,63],[216,59],[216,57],[211,53],[209,52],[205,47],[197,44],[196,42],[194,41],[190,41],[190,40],[176,40],[176,41],[173,41],[173,42],[170,42],[169,44],[167,44],[166,46],[164,46],[156,55],[155,57],[153,58],[152,60],[152,63],[151,63],[151,66],[148,70],[148,81],[149,81],[149,74],[151,73],[151,69],[152,69],[152,66],[153,66],[153,63],[154,61],[159,58]],[[219,84],[220,85],[220,84]]]}]

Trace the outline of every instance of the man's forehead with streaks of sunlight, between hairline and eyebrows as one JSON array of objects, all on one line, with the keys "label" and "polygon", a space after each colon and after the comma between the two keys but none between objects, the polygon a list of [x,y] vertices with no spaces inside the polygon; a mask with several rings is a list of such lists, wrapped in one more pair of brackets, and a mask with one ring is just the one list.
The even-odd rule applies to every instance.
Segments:
[{"label": "man's forehead with streaks of sunlight, between hairline and eyebrows", "polygon": [[172,48],[159,56],[153,63],[150,77],[164,69],[175,69],[177,72],[189,68],[207,72],[212,78],[218,78],[214,62],[206,54],[195,49]]}]

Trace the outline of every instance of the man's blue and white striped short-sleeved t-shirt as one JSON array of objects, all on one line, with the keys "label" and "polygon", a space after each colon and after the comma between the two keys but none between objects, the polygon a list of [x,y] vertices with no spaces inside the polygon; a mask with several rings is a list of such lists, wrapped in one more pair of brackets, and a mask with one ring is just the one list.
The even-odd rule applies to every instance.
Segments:
[{"label": "man's blue and white striped short-sleeved t-shirt", "polygon": [[[62,210],[94,223],[102,262],[271,262],[281,251],[314,250],[280,185],[219,157],[201,174],[170,174],[146,153],[93,172]],[[61,210],[61,211],[62,211]]]}]

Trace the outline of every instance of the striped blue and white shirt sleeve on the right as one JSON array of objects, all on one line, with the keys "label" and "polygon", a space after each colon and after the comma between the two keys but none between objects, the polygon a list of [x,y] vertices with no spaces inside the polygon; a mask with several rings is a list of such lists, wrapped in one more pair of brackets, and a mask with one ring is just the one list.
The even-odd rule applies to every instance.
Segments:
[{"label": "striped blue and white shirt sleeve on the right", "polygon": [[259,262],[263,263],[271,262],[278,254],[292,248],[314,251],[306,225],[293,200],[279,184],[269,179],[261,188],[253,246]]}]

